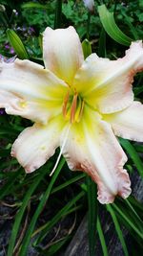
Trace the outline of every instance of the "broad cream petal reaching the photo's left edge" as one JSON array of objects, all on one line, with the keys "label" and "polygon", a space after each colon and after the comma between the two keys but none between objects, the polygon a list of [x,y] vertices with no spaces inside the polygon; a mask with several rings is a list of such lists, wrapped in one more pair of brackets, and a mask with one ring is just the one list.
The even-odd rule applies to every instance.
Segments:
[{"label": "broad cream petal reaching the photo's left edge", "polygon": [[47,123],[61,112],[64,81],[30,60],[0,63],[0,107],[6,112]]}]

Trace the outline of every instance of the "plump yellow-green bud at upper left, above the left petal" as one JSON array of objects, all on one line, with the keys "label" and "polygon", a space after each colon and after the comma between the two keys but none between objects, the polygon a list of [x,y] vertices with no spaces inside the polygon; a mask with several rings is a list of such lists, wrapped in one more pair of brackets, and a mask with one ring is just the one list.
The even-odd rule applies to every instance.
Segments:
[{"label": "plump yellow-green bud at upper left, above the left petal", "polygon": [[10,44],[13,47],[18,58],[29,59],[28,52],[27,52],[22,40],[20,39],[20,37],[13,30],[10,30],[10,29],[7,30],[7,35],[10,40]]}]

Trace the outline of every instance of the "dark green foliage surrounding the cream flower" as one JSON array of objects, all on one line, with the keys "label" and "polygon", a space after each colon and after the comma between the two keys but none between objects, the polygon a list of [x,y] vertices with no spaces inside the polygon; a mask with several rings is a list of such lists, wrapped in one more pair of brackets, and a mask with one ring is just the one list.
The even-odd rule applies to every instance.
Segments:
[{"label": "dark green foliage surrounding the cream flower", "polygon": [[[18,58],[30,58],[43,64],[41,42],[47,26],[74,26],[83,41],[85,58],[92,52],[103,58],[120,57],[131,43],[131,38],[143,38],[142,0],[94,2],[94,12],[89,13],[83,1],[77,0],[63,1],[60,12],[56,9],[55,0],[0,0],[0,5],[5,7],[0,8],[0,54],[7,58],[15,55]],[[133,91],[135,98],[142,102],[142,75],[135,77]],[[105,216],[107,213],[111,216],[124,255],[131,255],[132,251],[132,256],[136,256],[135,246],[138,255],[141,255],[141,202],[131,196],[126,200],[116,198],[112,205],[101,207],[98,204],[97,207],[96,186],[91,178],[78,172],[72,173],[64,159],[61,159],[54,175],[49,176],[58,151],[46,165],[26,175],[17,161],[10,157],[10,148],[18,134],[29,126],[31,122],[26,119],[6,113],[0,115],[0,202],[7,203],[10,198],[13,208],[10,241],[5,248],[8,256],[13,253],[27,255],[31,246],[39,255],[63,253],[87,212],[90,255],[96,255],[97,239],[103,255],[109,255],[101,210]],[[129,174],[132,176],[137,170],[137,175],[142,177],[143,145],[124,139],[120,143],[128,154],[129,160],[125,167]],[[72,224],[67,227],[67,222],[71,220]],[[62,233],[62,228],[60,230],[63,223],[66,223],[66,228],[63,228],[65,233]],[[132,250],[124,237],[123,228],[132,237]]]}]

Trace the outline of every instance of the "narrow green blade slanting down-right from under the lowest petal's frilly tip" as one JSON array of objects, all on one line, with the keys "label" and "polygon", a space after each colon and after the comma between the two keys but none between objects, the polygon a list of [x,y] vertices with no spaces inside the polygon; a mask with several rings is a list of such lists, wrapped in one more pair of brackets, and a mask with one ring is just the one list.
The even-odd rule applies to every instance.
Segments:
[{"label": "narrow green blade slanting down-right from under the lowest petal's frilly tip", "polygon": [[119,223],[117,221],[117,218],[114,214],[114,211],[112,209],[112,206],[110,204],[107,204],[106,205],[106,208],[107,210],[110,212],[111,216],[112,216],[112,221],[114,223],[114,226],[115,226],[115,230],[116,230],[116,233],[118,235],[118,238],[120,240],[120,243],[122,244],[122,248],[123,248],[123,251],[124,251],[124,255],[125,256],[129,256],[129,253],[128,253],[128,249],[127,249],[127,246],[126,246],[126,243],[125,243],[125,240],[124,240],[124,237],[123,237],[123,233],[120,229],[120,226],[119,226]]}]

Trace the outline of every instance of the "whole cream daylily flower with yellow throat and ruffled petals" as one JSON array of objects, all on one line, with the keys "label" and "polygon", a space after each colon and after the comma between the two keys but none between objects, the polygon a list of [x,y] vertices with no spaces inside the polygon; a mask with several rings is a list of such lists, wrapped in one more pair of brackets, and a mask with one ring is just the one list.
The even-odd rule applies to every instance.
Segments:
[{"label": "whole cream daylily flower with yellow throat and ruffled petals", "polygon": [[0,107],[35,122],[11,154],[31,173],[60,146],[70,169],[92,176],[101,203],[127,198],[127,156],[116,136],[143,141],[143,105],[133,102],[132,90],[133,75],[143,69],[141,41],[124,58],[84,60],[72,27],[47,28],[43,58],[45,68],[30,60],[0,63]]}]

